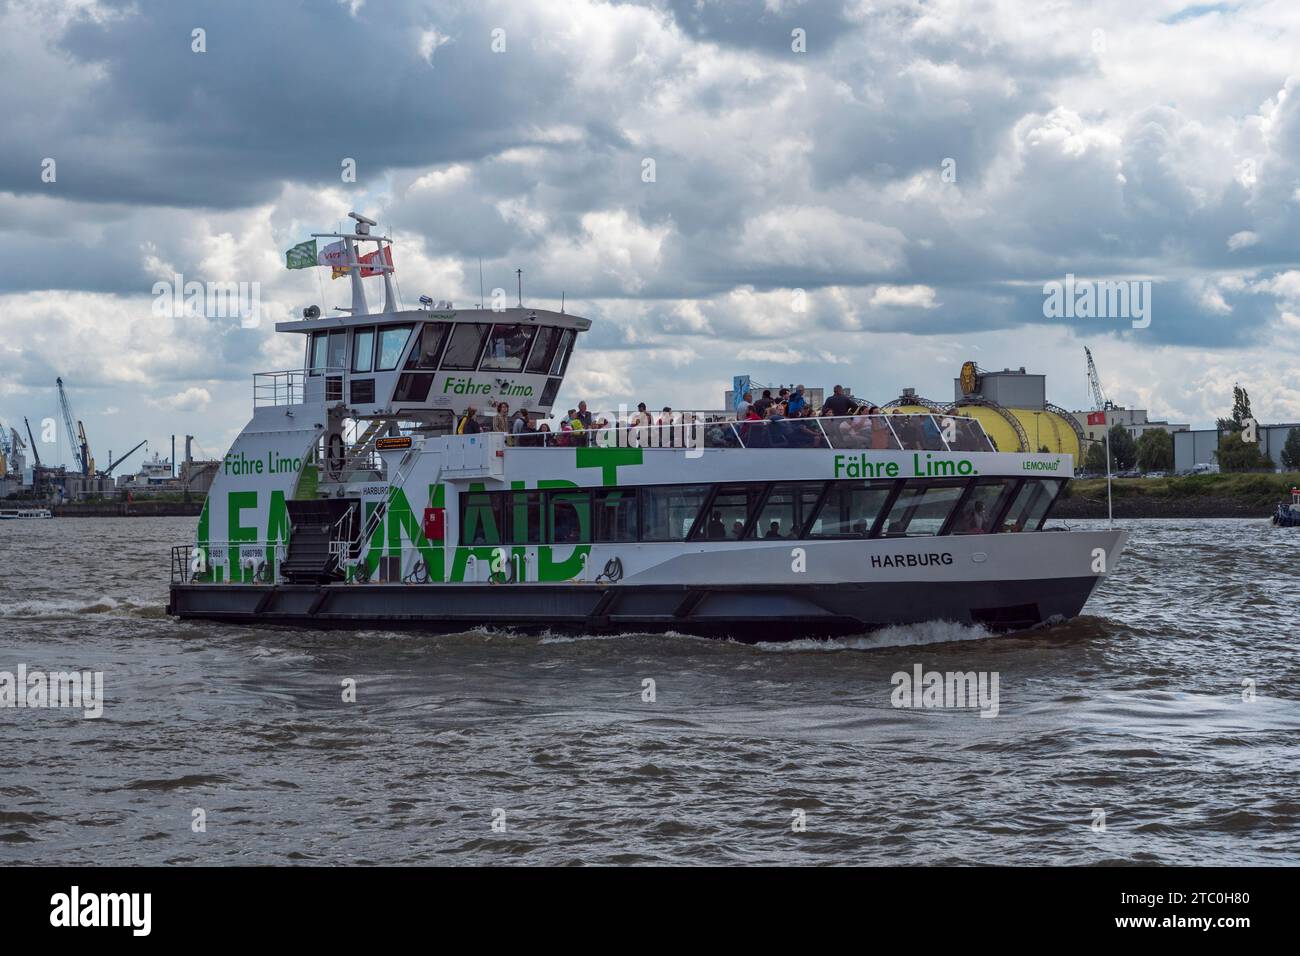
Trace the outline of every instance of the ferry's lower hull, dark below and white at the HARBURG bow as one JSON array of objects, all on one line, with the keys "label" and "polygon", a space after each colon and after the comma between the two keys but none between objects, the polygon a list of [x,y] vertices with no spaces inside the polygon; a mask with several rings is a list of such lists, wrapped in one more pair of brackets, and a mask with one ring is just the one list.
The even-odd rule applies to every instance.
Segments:
[{"label": "ferry's lower hull, dark below and white at the HARBURG bow", "polygon": [[[753,542],[740,562],[720,561],[702,542],[616,584],[177,584],[169,611],[307,627],[673,631],[740,641],[829,637],[930,620],[1005,631],[1076,617],[1118,559],[1124,537],[1105,531]],[[805,550],[809,570],[790,572],[794,549]],[[780,567],[784,580],[755,583],[767,564]],[[823,570],[814,571],[819,564]]]}]

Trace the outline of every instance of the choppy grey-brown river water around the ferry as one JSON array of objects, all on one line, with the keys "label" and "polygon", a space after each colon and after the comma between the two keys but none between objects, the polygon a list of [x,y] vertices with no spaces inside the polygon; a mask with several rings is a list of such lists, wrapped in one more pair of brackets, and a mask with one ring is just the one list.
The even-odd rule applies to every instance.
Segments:
[{"label": "choppy grey-brown river water around the ferry", "polygon": [[[0,864],[1300,862],[1296,529],[1126,522],[1020,635],[751,646],[178,623],[192,525],[0,522],[0,671],[104,674],[0,709]],[[892,706],[916,665],[997,717]]]}]

